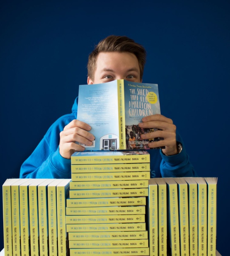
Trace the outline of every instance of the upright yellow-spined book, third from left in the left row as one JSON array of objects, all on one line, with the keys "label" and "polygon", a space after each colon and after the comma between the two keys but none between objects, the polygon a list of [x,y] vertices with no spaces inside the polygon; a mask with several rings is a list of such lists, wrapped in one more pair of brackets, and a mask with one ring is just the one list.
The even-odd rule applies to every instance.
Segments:
[{"label": "upright yellow-spined book, third from left in the left row", "polygon": [[21,228],[21,255],[30,256],[30,210],[29,185],[34,179],[27,179],[19,186],[20,195],[20,228]]}]

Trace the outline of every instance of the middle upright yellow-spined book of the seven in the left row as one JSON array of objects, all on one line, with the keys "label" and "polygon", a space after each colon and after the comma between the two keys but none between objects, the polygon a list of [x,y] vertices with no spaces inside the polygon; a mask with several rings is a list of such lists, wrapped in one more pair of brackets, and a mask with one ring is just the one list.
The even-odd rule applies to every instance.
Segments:
[{"label": "middle upright yellow-spined book of the seven in the left row", "polygon": [[31,255],[39,255],[39,216],[37,186],[46,179],[34,179],[29,185],[30,209],[30,251]]}]

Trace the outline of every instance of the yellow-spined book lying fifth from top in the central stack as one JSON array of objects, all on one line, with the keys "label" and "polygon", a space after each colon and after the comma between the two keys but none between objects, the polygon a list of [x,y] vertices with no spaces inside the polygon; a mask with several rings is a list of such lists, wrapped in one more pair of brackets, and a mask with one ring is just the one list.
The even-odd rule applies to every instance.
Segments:
[{"label": "yellow-spined book lying fifth from top in the central stack", "polygon": [[78,189],[70,190],[69,198],[109,198],[109,197],[131,197],[147,196],[148,189]]}]

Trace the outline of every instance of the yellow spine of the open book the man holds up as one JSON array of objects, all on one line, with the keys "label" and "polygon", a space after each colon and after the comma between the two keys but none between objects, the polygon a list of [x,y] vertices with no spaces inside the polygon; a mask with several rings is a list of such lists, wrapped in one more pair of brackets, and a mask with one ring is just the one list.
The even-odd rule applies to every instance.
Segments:
[{"label": "yellow spine of the open book the man holds up", "polygon": [[126,148],[125,141],[125,108],[124,108],[124,80],[117,80],[118,118],[119,118],[119,149]]}]

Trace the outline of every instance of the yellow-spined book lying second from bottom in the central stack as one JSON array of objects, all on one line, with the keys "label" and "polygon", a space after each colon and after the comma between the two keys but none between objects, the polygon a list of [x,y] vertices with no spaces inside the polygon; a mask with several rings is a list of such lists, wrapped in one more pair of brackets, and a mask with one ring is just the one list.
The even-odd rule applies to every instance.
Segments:
[{"label": "yellow-spined book lying second from bottom in the central stack", "polygon": [[140,248],[148,247],[148,239],[69,241],[69,248]]}]

